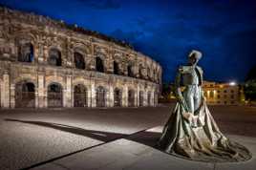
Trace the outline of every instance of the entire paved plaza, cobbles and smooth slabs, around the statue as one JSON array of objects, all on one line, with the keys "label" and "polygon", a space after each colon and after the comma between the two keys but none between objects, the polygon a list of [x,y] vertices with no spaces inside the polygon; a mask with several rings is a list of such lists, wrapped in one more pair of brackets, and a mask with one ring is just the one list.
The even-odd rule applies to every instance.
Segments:
[{"label": "entire paved plaza, cobbles and smooth slabs, around the statue", "polygon": [[0,110],[0,169],[255,169],[256,108],[210,107],[226,136],[253,158],[205,163],[155,147],[173,105],[145,108]]}]

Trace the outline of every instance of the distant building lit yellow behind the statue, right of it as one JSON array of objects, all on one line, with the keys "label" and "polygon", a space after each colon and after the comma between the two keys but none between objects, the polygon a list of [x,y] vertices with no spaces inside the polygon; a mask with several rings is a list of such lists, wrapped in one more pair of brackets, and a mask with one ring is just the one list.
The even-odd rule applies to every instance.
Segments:
[{"label": "distant building lit yellow behind the statue, right of it", "polygon": [[203,81],[203,95],[208,104],[238,105],[241,103],[241,90],[234,83]]}]

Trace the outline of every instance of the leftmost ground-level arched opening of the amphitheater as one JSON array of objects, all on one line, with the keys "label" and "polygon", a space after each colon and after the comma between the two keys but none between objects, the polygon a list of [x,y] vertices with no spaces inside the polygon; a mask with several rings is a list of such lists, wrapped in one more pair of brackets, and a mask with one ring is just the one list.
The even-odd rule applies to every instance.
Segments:
[{"label": "leftmost ground-level arched opening of the amphitheater", "polygon": [[15,85],[15,107],[33,108],[35,106],[35,88],[32,82],[22,81]]}]

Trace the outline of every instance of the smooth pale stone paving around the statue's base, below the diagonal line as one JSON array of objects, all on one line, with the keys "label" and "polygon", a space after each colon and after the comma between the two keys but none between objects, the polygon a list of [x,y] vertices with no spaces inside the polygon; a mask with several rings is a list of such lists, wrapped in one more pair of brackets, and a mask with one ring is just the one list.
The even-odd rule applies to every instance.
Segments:
[{"label": "smooth pale stone paving around the statue's base, below the diagonal line", "polygon": [[[147,130],[145,133],[160,135],[161,127]],[[145,133],[141,133],[145,135]],[[143,140],[135,141],[141,137],[121,138],[95,148],[77,153],[75,155],[57,159],[50,165],[34,168],[46,170],[58,165],[62,169],[84,170],[255,170],[256,169],[256,138],[242,136],[228,136],[243,143],[253,154],[253,158],[239,163],[206,163],[177,158],[153,148],[151,143]],[[149,137],[147,137],[148,139]],[[152,136],[155,139],[155,136]],[[140,138],[141,139],[141,138]],[[139,140],[139,139],[138,139]]]}]

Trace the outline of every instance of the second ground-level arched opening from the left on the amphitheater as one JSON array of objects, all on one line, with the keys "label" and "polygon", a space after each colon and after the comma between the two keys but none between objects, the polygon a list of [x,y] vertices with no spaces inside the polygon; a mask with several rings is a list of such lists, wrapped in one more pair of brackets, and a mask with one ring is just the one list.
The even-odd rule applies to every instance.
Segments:
[{"label": "second ground-level arched opening from the left on the amphitheater", "polygon": [[62,107],[62,87],[60,84],[53,83],[47,88],[48,107]]}]

